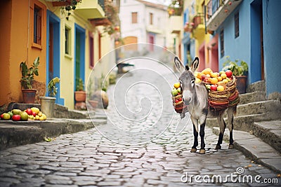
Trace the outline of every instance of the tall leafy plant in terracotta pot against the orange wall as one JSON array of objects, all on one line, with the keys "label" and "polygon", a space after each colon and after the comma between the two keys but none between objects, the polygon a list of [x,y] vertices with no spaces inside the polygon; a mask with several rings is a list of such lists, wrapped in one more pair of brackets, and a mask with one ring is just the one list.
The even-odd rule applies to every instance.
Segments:
[{"label": "tall leafy plant in terracotta pot against the orange wall", "polygon": [[32,89],[32,82],[34,81],[34,75],[39,76],[39,57],[37,57],[32,67],[27,68],[26,62],[20,63],[20,69],[22,71],[22,78],[20,78],[20,85],[22,87],[23,102],[32,104],[35,101],[35,95],[37,90]]}]

